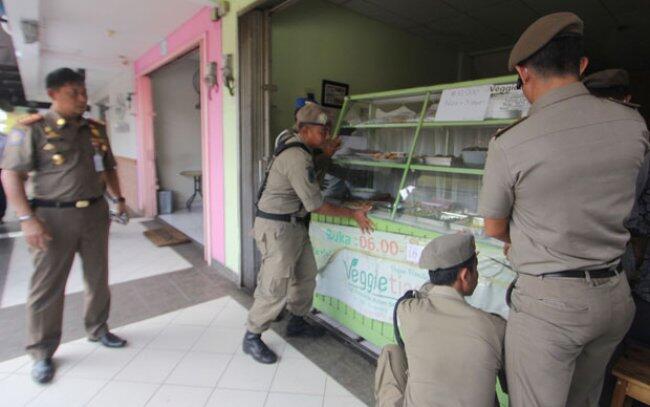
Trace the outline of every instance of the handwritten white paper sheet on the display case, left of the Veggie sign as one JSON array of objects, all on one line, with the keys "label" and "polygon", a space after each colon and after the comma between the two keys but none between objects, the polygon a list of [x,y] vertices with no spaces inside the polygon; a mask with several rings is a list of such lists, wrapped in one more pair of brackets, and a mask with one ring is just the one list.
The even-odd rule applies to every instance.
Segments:
[{"label": "handwritten white paper sheet on the display case, left of the Veggie sign", "polygon": [[490,101],[490,85],[442,91],[435,121],[483,120]]}]

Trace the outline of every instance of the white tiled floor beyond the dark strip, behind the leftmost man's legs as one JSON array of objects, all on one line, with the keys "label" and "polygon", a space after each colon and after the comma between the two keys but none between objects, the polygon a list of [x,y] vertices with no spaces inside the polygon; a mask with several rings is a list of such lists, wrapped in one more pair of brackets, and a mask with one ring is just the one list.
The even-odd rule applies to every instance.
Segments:
[{"label": "white tiled floor beyond the dark strip, behind the leftmost man's legs", "polygon": [[[158,274],[170,273],[192,267],[187,260],[169,247],[156,247],[142,232],[146,228],[141,220],[128,225],[111,225],[109,243],[110,284],[122,283]],[[7,279],[0,296],[0,308],[22,304],[27,298],[31,277],[31,256],[25,239],[14,240],[9,260]],[[75,259],[70,272],[66,293],[83,291],[83,274],[79,257]]]}]

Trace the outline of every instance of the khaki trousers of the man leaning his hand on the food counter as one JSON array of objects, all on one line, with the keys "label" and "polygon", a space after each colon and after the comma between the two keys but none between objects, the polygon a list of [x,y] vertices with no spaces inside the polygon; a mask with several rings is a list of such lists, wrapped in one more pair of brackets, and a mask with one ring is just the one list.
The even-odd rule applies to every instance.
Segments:
[{"label": "khaki trousers of the man leaning his hand on the food counter", "polygon": [[247,327],[259,334],[269,329],[285,305],[294,315],[309,313],[318,269],[303,224],[257,218],[254,233],[262,265]]}]

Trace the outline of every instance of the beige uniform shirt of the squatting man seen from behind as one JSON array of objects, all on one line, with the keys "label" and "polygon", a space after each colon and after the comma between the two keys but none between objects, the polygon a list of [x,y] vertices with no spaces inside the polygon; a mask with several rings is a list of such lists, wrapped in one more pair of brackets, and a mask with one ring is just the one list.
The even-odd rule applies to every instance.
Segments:
[{"label": "beige uniform shirt of the squatting man seen from behind", "polygon": [[404,405],[492,406],[505,321],[453,287],[427,286],[397,310],[409,366]]}]

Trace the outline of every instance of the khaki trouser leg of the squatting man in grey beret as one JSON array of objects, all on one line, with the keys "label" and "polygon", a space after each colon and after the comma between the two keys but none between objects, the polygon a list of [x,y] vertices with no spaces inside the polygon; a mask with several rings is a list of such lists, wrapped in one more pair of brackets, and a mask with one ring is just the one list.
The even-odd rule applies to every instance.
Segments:
[{"label": "khaki trouser leg of the squatting man in grey beret", "polygon": [[377,359],[375,372],[375,405],[377,407],[403,407],[406,391],[408,363],[404,349],[386,345]]}]

